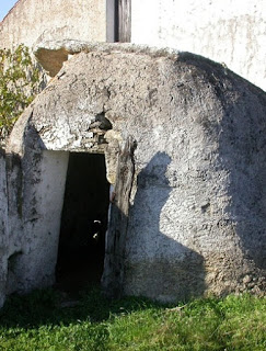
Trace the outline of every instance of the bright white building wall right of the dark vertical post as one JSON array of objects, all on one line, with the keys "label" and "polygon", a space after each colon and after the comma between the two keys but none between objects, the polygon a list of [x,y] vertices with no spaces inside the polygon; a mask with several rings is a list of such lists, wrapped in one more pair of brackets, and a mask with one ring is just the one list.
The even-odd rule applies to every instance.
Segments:
[{"label": "bright white building wall right of the dark vertical post", "polygon": [[265,0],[132,0],[131,41],[225,64],[266,90]]}]

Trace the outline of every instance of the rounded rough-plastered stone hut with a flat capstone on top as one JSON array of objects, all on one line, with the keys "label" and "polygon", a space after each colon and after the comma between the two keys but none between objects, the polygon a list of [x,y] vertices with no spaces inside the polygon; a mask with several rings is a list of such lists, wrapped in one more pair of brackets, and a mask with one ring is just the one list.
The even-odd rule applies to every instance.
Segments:
[{"label": "rounded rough-plastered stone hut with a flat capstone on top", "polygon": [[[36,56],[62,68],[1,154],[1,301],[55,283],[67,170],[78,155],[104,158],[112,190],[107,205],[95,200],[105,185],[86,193],[85,183],[101,182],[99,166],[81,162],[77,182],[83,169],[88,181],[72,194],[85,193],[88,218],[94,204],[107,211],[107,295],[265,294],[265,92],[189,53],[46,43]],[[62,56],[71,58],[55,64]],[[79,220],[78,202],[69,222],[71,213]]]}]

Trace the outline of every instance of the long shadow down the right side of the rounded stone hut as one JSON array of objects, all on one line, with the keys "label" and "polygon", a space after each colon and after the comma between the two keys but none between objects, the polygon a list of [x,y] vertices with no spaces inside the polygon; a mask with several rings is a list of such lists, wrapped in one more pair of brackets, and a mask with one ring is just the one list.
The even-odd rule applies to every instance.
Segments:
[{"label": "long shadow down the right side of the rounded stone hut", "polygon": [[[223,117],[201,121],[218,139],[217,171],[229,174],[224,227],[238,236],[245,259],[266,269],[266,93],[222,65],[182,53],[180,61],[201,71],[220,102]],[[254,273],[254,272],[253,272]],[[259,273],[262,275],[262,273]]]}]

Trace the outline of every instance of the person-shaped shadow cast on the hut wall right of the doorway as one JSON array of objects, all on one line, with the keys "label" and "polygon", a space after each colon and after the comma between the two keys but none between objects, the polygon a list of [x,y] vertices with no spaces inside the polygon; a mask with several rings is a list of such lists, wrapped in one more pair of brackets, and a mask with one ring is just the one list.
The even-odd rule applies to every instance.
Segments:
[{"label": "person-shaped shadow cast on the hut wall right of the doorway", "polygon": [[[167,237],[161,228],[162,208],[172,190],[165,176],[170,162],[167,154],[158,152],[138,174],[129,223],[117,206],[112,210],[122,222],[126,219],[127,233],[123,238],[124,233],[116,230],[112,238],[115,256],[122,254],[124,267],[117,267],[111,281],[114,282],[123,270],[123,293],[162,302],[187,299],[205,292],[204,258]],[[111,285],[105,287],[112,288]]]}]

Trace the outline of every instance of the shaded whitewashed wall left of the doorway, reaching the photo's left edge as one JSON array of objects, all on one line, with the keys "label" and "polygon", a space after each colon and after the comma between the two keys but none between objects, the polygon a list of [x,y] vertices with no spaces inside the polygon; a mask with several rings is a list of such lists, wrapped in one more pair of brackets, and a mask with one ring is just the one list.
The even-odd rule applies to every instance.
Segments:
[{"label": "shaded whitewashed wall left of the doorway, reaching the photo's left edge", "polygon": [[0,154],[0,307],[55,281],[68,156],[44,150],[21,172],[24,157],[8,155],[5,167]]}]

